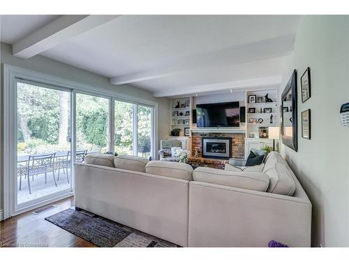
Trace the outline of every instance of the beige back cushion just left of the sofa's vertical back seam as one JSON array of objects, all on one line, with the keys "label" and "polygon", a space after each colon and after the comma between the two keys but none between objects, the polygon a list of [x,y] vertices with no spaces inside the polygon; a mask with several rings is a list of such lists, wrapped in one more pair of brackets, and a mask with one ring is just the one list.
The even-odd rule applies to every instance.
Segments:
[{"label": "beige back cushion just left of the sofa's vertical back seam", "polygon": [[174,177],[182,180],[193,180],[191,173],[193,168],[187,163],[177,163],[171,161],[149,161],[145,166],[145,172],[163,177]]}]

